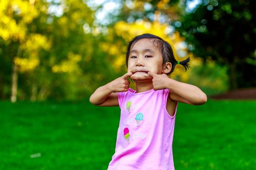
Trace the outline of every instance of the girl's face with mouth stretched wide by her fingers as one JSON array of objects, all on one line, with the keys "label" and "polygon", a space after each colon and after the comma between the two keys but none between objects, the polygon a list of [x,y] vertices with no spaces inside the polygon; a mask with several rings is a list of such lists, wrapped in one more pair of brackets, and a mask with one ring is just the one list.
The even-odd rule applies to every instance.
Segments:
[{"label": "girl's face with mouth stretched wide by her fingers", "polygon": [[147,73],[152,71],[162,74],[163,57],[152,39],[143,38],[138,40],[131,48],[128,58],[128,72],[133,72],[131,79],[145,80],[152,79]]}]

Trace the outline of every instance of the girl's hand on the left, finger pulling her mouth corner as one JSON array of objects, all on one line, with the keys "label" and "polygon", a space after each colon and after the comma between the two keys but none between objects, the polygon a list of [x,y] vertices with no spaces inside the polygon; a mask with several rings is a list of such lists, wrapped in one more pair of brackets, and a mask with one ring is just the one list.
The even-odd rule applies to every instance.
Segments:
[{"label": "girl's hand on the left, finger pulling her mouth corner", "polygon": [[122,77],[119,77],[108,84],[112,92],[125,92],[128,91],[130,87],[130,82],[127,80],[128,77],[133,75],[132,72],[124,74]]}]

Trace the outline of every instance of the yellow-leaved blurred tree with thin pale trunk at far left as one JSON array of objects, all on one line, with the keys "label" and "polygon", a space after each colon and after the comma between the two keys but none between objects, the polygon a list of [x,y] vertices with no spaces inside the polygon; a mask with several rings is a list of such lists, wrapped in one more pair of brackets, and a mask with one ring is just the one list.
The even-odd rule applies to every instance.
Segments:
[{"label": "yellow-leaved blurred tree with thin pale trunk at far left", "polygon": [[2,38],[0,42],[5,47],[3,50],[1,49],[2,64],[9,62],[7,67],[1,67],[3,73],[0,76],[0,83],[2,84],[0,94],[4,92],[4,76],[10,74],[11,71],[8,72],[8,70],[12,66],[12,102],[16,102],[19,69],[34,69],[39,64],[38,50],[40,48],[49,49],[46,37],[39,34],[29,34],[28,31],[28,25],[39,15],[34,3],[35,0],[0,1],[0,37]]}]

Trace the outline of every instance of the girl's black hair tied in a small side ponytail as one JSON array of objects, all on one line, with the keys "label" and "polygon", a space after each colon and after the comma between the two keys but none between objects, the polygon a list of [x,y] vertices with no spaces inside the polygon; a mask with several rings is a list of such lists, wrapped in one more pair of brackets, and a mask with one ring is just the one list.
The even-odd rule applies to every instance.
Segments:
[{"label": "girl's black hair tied in a small side ponytail", "polygon": [[[134,44],[136,42],[138,42],[138,40],[143,39],[143,38],[153,39],[153,44],[155,44],[159,48],[159,50],[162,54],[162,57],[163,57],[162,66],[164,66],[164,64],[167,62],[170,62],[172,64],[171,71],[169,73],[167,73],[167,75],[170,75],[174,71],[174,68],[178,63],[174,57],[172,46],[167,41],[165,41],[162,38],[160,38],[156,35],[153,35],[153,34],[141,34],[141,35],[134,37],[132,39],[132,41],[129,42],[129,45],[127,46],[126,60],[125,60],[126,67],[128,67],[128,59],[129,59],[131,48],[134,46]],[[190,61],[190,57],[179,62],[179,64],[185,68],[185,71],[187,71],[187,69],[189,68],[189,61]]]}]

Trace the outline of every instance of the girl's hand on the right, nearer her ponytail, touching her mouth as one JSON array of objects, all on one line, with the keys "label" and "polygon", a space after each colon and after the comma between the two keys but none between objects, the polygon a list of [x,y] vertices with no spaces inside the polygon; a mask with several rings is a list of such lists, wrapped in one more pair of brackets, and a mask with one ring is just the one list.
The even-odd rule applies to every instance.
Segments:
[{"label": "girl's hand on the right, nearer her ponytail, touching her mouth", "polygon": [[166,82],[169,80],[169,77],[166,74],[156,74],[154,72],[149,71],[148,75],[153,78],[152,82],[154,90],[161,90],[167,88]]}]

